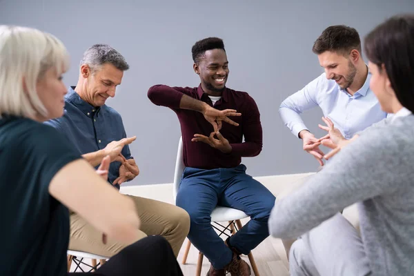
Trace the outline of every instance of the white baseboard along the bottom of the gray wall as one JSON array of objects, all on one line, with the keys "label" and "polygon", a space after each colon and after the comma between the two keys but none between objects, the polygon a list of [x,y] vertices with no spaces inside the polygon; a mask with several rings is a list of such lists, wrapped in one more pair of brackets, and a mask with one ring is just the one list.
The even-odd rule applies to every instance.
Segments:
[{"label": "white baseboard along the bottom of the gray wall", "polygon": [[[265,177],[254,177],[257,181],[262,183],[273,195],[277,196],[279,193],[295,181],[300,181],[304,177],[313,175],[314,172],[297,173],[291,175],[270,175]],[[146,197],[150,199],[157,199],[170,204],[174,203],[172,197],[172,183],[169,184],[153,184],[153,185],[139,185],[139,186],[121,186],[121,193],[125,195],[135,195],[137,197]]]}]

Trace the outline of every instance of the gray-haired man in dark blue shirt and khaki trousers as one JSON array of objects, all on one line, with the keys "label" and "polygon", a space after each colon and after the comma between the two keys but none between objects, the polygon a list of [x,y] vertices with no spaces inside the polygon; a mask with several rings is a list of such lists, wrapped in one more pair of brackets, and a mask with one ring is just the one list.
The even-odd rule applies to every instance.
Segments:
[{"label": "gray-haired man in dark blue shirt and khaki trousers", "polygon": [[[126,138],[121,115],[106,106],[105,102],[108,97],[115,97],[115,89],[121,84],[124,71],[128,69],[124,57],[114,48],[102,44],[88,48],[81,59],[77,86],[70,87],[65,97],[63,117],[46,122],[63,132],[92,166],[99,166],[101,159],[110,155],[112,163],[108,181],[118,189],[119,184],[130,181],[139,174],[128,147],[135,138]],[[81,194],[82,191],[79,190],[79,197]],[[164,236],[177,256],[190,228],[188,213],[164,202],[128,197],[137,206],[141,219],[141,229],[137,229],[140,236]],[[98,233],[76,213],[70,213],[71,250],[111,257],[126,246],[128,244],[111,240],[103,244],[102,233]]]}]

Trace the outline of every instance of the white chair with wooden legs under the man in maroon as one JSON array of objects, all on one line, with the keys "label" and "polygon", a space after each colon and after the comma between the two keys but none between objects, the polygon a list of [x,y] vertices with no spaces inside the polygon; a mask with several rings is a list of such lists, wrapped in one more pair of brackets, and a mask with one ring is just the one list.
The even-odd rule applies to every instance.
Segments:
[{"label": "white chair with wooden legs under the man in maroon", "polygon": [[[178,188],[179,188],[179,184],[181,183],[181,177],[183,175],[184,168],[186,168],[186,166],[184,165],[184,160],[183,160],[183,141],[180,137],[179,143],[178,143],[178,150],[177,150],[177,160],[175,161],[175,175],[174,175],[174,184],[173,184],[174,186],[172,187],[174,201],[175,201],[175,198],[177,197]],[[248,215],[246,215],[246,213],[244,213],[241,210],[217,206],[211,213],[211,222],[213,223],[212,224],[213,228],[220,231],[219,236],[226,235],[227,237],[230,237],[230,235],[234,235],[238,229],[242,228],[242,222],[240,221],[240,219],[244,219],[246,217],[248,217]],[[225,222],[227,226],[221,225],[218,222]],[[228,235],[226,231],[229,231],[230,235]],[[191,247],[191,242],[190,240],[188,240],[186,251],[184,252],[182,264],[186,264],[187,257],[188,257],[188,251],[190,251],[190,247]],[[199,252],[196,276],[201,275],[201,266],[203,265],[203,257],[204,257],[203,253]],[[248,259],[250,260],[253,273],[255,273],[256,276],[259,276],[256,262],[251,252],[248,254]]]}]

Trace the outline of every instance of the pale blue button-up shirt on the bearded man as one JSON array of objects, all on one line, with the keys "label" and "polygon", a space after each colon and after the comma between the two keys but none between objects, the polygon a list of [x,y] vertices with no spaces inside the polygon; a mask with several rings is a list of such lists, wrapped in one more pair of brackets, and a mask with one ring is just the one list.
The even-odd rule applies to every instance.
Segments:
[{"label": "pale blue button-up shirt on the bearded man", "polygon": [[323,73],[285,99],[279,107],[279,115],[285,126],[297,137],[301,130],[308,130],[299,114],[319,106],[324,117],[329,117],[335,128],[346,139],[351,139],[356,132],[387,117],[369,88],[370,79],[371,74],[368,72],[364,86],[352,96],[341,89],[335,80],[326,79],[326,74]]}]

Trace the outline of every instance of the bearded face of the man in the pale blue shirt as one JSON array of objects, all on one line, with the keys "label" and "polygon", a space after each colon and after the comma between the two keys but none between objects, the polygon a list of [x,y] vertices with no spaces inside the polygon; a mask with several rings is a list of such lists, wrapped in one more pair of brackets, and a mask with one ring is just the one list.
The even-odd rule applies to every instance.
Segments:
[{"label": "bearded face of the man in the pale blue shirt", "polygon": [[317,55],[319,64],[325,69],[326,79],[334,79],[338,86],[346,89],[353,83],[357,68],[350,57],[326,51]]}]

